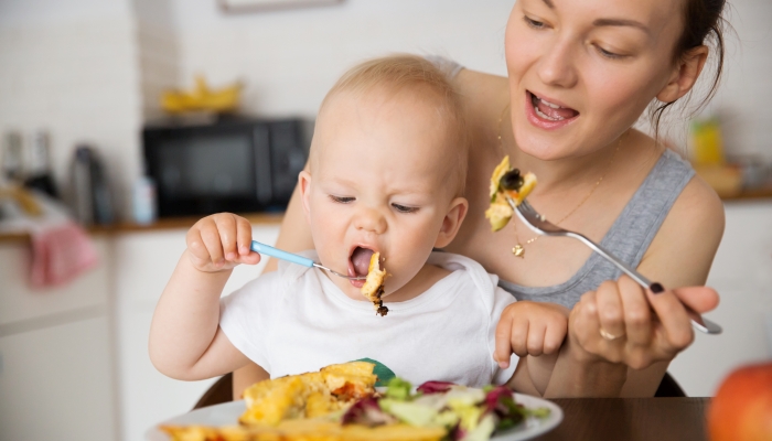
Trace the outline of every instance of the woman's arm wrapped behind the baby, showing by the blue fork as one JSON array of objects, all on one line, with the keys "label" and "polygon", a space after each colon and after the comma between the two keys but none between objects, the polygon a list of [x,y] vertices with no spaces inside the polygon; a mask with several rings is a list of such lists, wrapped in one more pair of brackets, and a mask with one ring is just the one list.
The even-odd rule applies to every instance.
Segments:
[{"label": "woman's arm wrapped behind the baby, showing by the blue fork", "polygon": [[[297,185],[287,206],[285,218],[281,220],[281,229],[276,240],[276,247],[294,252],[313,248],[311,228],[305,220],[303,207],[300,203],[300,191]],[[262,273],[276,271],[277,267],[277,260],[270,259]],[[246,366],[236,369],[233,373],[233,398],[235,400],[242,399],[244,389],[269,377],[270,375],[265,369],[254,363],[248,363]]]}]

